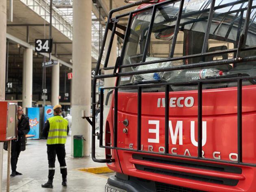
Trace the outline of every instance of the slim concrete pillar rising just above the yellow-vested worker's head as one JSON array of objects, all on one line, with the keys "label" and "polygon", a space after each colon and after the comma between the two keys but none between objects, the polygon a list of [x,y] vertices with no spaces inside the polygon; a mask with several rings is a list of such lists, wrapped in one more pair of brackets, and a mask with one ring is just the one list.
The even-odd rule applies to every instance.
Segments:
[{"label": "slim concrete pillar rising just above the yellow-vested worker's head", "polygon": [[52,106],[59,104],[60,95],[60,63],[52,66]]}]

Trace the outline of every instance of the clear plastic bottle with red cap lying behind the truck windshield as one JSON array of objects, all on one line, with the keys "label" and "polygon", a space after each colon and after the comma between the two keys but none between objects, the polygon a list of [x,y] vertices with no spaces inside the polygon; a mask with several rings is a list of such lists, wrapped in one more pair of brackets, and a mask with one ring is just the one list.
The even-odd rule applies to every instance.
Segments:
[{"label": "clear plastic bottle with red cap lying behind the truck windshield", "polygon": [[205,79],[206,77],[217,77],[222,76],[223,72],[219,71],[218,69],[193,69],[187,70],[185,72],[185,77],[188,80],[195,81],[200,79]]}]

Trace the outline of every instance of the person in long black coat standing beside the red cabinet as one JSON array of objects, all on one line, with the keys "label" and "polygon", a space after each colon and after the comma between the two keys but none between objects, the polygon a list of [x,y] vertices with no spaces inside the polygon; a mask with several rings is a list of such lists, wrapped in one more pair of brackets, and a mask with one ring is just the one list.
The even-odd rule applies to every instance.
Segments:
[{"label": "person in long black coat standing beside the red cabinet", "polygon": [[26,134],[30,130],[29,118],[23,114],[23,109],[21,106],[17,107],[18,110],[18,130],[17,130],[17,140],[11,141],[11,177],[16,175],[22,175],[22,173],[17,172],[17,162],[21,151],[26,150]]}]

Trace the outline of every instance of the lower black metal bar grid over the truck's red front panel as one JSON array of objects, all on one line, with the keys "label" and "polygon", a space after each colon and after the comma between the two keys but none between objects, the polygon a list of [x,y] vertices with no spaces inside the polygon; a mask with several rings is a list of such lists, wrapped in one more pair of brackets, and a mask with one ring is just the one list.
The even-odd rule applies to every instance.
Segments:
[{"label": "lower black metal bar grid over the truck's red front panel", "polygon": [[[247,59],[246,59],[247,60]],[[256,56],[251,58],[250,60],[256,60]],[[223,64],[225,65],[225,64]],[[93,135],[99,136],[100,138],[100,147],[106,149],[118,149],[124,151],[133,151],[139,153],[147,153],[147,154],[158,154],[158,155],[166,155],[166,156],[173,156],[173,157],[183,157],[183,158],[190,158],[190,159],[197,159],[197,160],[205,160],[205,161],[212,161],[212,162],[223,162],[228,164],[241,164],[246,166],[256,166],[256,164],[249,164],[243,162],[243,151],[242,151],[242,81],[243,80],[255,80],[256,76],[237,76],[234,78],[219,78],[219,79],[208,79],[208,80],[200,80],[200,81],[188,81],[188,82],[175,82],[175,83],[159,83],[159,84],[141,84],[141,85],[128,85],[128,86],[115,86],[115,87],[106,87],[101,88],[100,90],[100,132],[99,134],[95,134],[95,129]],[[238,149],[238,160],[237,162],[226,161],[226,160],[216,160],[216,159],[209,159],[202,156],[202,85],[205,83],[216,83],[216,82],[237,82],[237,149]],[[169,106],[169,86],[177,86],[177,85],[197,85],[197,121],[198,121],[198,147],[197,147],[197,157],[192,156],[185,156],[185,155],[173,155],[169,153],[169,108],[165,107],[165,152],[164,153],[157,153],[152,151],[143,151],[141,150],[141,101],[142,101],[142,89],[149,88],[149,87],[165,87],[165,106]],[[126,149],[117,147],[117,104],[118,104],[118,90],[119,89],[137,89],[137,105],[138,105],[138,119],[137,119],[137,149]],[[104,90],[107,89],[114,89],[114,122],[113,122],[113,145],[112,146],[104,146],[103,145],[103,106],[104,106]],[[92,147],[95,147],[92,145]],[[106,160],[98,160],[98,162],[114,162],[114,159],[106,159]]]}]

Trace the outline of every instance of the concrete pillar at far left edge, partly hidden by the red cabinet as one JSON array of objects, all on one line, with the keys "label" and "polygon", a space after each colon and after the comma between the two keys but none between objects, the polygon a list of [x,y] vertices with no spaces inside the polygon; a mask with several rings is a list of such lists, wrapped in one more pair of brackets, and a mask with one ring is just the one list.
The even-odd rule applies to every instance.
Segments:
[{"label": "concrete pillar at far left edge, partly hidden by the red cabinet", "polygon": [[[0,0],[0,101],[5,100],[6,0]],[[0,192],[2,191],[3,143],[0,142]]]}]

